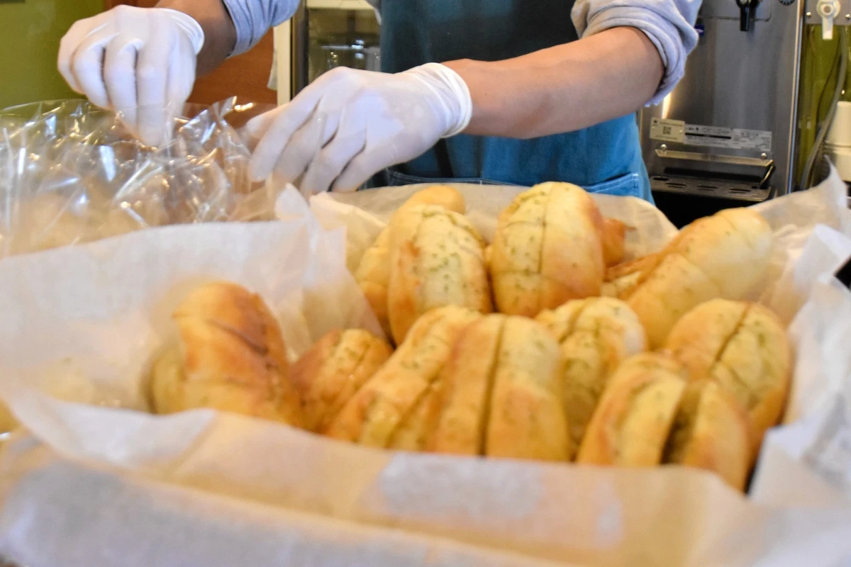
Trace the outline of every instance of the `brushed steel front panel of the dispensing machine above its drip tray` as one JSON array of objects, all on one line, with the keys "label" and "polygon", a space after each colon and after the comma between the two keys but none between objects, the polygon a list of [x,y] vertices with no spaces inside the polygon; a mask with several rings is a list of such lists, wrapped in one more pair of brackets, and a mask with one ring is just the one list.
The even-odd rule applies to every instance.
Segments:
[{"label": "brushed steel front panel of the dispensing machine above its drip tray", "polygon": [[[763,163],[774,160],[774,190],[777,194],[791,190],[801,29],[799,1],[786,6],[780,0],[762,0],[751,30],[740,31],[739,8],[734,0],[704,0],[700,15],[705,32],[688,58],[683,81],[662,104],[640,113],[644,160],[651,177],[665,173],[666,168],[683,166],[682,161],[673,163],[671,154],[697,152],[717,156],[690,164],[707,178],[729,172],[730,160],[725,156]],[[654,117],[688,125],[768,131],[770,150],[651,139]]]}]

